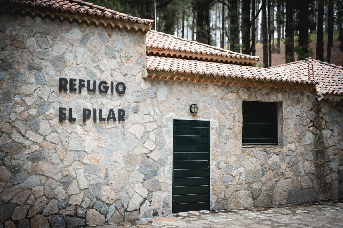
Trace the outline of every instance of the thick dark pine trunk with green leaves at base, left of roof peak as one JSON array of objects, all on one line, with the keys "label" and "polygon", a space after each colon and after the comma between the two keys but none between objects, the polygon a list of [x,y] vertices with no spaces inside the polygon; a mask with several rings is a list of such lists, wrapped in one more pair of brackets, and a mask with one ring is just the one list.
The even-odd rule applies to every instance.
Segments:
[{"label": "thick dark pine trunk with green leaves at base, left of roof peak", "polygon": [[296,47],[296,52],[298,54],[298,61],[304,60],[305,58],[309,57],[311,54],[309,50],[309,37],[308,37],[308,30],[309,30],[309,23],[308,23],[308,16],[309,11],[308,7],[309,1],[308,0],[301,0],[299,1],[299,13],[298,13],[298,24],[299,24],[299,38],[298,38],[298,46]]}]

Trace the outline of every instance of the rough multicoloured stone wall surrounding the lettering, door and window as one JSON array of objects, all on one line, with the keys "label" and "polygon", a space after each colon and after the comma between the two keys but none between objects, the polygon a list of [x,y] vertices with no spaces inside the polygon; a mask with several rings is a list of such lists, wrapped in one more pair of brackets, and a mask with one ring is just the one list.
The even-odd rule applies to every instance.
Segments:
[{"label": "rough multicoloured stone wall surrounding the lettering, door and window", "polygon": [[[211,209],[342,196],[342,100],[143,79],[142,32],[0,18],[2,225],[73,227],[170,214],[173,119],[211,121]],[[59,91],[60,77],[122,81],[127,89]],[[242,100],[282,103],[283,146],[242,147]],[[193,102],[199,112],[191,115]],[[67,116],[72,108],[76,120],[59,121],[60,107]],[[126,121],[83,122],[83,108],[123,109]]]}]

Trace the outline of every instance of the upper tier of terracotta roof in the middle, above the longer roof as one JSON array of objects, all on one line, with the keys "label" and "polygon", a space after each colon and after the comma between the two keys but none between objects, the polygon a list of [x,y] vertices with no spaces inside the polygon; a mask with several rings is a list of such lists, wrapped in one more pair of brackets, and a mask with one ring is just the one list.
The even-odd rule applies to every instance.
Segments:
[{"label": "upper tier of terracotta roof in the middle, above the longer roof", "polygon": [[258,56],[243,55],[157,31],[147,33],[146,48],[147,53],[150,55],[182,57],[250,66],[255,65],[259,59]]}]

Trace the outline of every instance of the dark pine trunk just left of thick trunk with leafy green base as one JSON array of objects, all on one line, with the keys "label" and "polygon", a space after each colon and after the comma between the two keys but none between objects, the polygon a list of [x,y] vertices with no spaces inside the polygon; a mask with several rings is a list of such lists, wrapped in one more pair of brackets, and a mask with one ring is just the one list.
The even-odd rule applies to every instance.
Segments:
[{"label": "dark pine trunk just left of thick trunk with leafy green base", "polygon": [[285,61],[294,62],[293,0],[286,0]]}]

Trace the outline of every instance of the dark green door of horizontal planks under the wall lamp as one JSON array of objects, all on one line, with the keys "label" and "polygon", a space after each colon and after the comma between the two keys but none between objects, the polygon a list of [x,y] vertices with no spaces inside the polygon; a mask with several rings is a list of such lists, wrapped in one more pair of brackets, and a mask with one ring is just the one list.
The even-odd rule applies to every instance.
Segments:
[{"label": "dark green door of horizontal planks under the wall lamp", "polygon": [[173,212],[210,209],[210,121],[174,120]]}]

